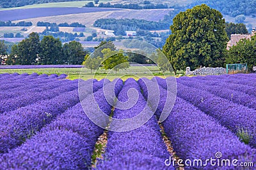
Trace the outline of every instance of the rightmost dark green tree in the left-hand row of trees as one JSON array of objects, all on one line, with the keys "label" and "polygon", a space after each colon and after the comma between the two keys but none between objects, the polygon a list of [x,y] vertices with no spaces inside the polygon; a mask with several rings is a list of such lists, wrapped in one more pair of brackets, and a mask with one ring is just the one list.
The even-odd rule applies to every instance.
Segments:
[{"label": "rightmost dark green tree in the left-hand row of trees", "polygon": [[70,41],[63,45],[65,64],[82,64],[84,60],[84,48],[81,43],[77,41]]}]

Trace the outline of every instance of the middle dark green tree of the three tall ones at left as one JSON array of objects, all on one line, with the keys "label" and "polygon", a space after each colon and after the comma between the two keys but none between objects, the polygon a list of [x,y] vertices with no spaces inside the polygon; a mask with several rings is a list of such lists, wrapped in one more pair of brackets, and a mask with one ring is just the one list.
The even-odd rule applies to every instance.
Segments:
[{"label": "middle dark green tree of the three tall ones at left", "polygon": [[60,39],[44,36],[41,48],[39,64],[62,64],[64,55]]}]

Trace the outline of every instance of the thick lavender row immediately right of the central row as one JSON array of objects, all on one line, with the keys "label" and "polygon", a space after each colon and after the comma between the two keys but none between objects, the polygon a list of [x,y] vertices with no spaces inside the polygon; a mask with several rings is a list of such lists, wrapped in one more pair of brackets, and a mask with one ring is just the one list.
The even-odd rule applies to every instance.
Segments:
[{"label": "thick lavender row immediately right of the central row", "polygon": [[[166,90],[166,85],[170,81],[166,83],[166,80],[161,78],[154,78],[153,80],[159,84],[160,107],[157,108],[156,112],[159,115],[166,102],[170,103],[168,96],[172,96],[172,92]],[[143,91],[147,92],[157,88],[154,81],[141,79],[139,83]],[[198,159],[202,160],[202,164],[205,164],[205,166],[202,167],[200,165],[197,167],[199,169],[236,169],[236,167],[218,167],[217,164],[212,166],[209,162],[207,164],[207,159],[216,159],[216,153],[222,153],[223,157],[221,159],[237,159],[239,162],[256,161],[255,150],[239,141],[235,134],[221,126],[214,118],[206,115],[203,111],[193,106],[193,104],[181,99],[179,97],[181,89],[179,88],[178,83],[178,97],[172,112],[163,122],[163,127],[168,138],[173,141],[173,148],[180,159],[191,160],[191,162]],[[145,97],[150,99],[148,96]],[[151,98],[150,103],[152,105],[157,104],[154,98]],[[190,165],[193,168],[198,166],[198,164]]]}]

